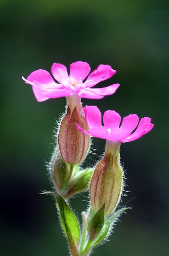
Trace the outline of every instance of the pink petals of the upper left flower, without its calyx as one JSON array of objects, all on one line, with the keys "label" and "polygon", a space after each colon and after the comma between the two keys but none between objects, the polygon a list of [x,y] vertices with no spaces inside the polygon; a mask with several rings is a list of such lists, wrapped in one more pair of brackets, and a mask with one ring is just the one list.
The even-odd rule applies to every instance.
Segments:
[{"label": "pink petals of the upper left flower, without its calyx", "polygon": [[[109,85],[105,88],[91,88],[94,85],[109,79],[116,73],[109,65],[99,65],[96,70],[90,72],[87,62],[77,61],[70,65],[70,74],[67,68],[60,63],[53,63],[51,74],[58,81],[56,83],[46,70],[36,70],[27,79],[22,76],[25,83],[32,85],[37,101],[45,101],[50,98],[71,97],[77,101],[77,97],[87,99],[102,99],[106,95],[116,92],[119,84]],[[89,74],[89,76],[88,76]],[[86,79],[86,77],[88,78]],[[86,81],[83,83],[83,81]]]}]

